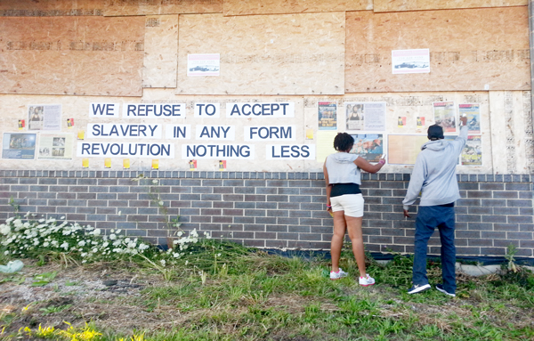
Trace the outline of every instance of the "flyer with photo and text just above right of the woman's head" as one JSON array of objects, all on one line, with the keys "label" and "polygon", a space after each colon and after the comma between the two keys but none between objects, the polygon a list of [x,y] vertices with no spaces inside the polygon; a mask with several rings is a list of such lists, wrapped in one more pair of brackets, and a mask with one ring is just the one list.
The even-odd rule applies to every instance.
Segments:
[{"label": "flyer with photo and text just above right of the woman's head", "polygon": [[385,130],[385,101],[347,101],[346,130]]}]

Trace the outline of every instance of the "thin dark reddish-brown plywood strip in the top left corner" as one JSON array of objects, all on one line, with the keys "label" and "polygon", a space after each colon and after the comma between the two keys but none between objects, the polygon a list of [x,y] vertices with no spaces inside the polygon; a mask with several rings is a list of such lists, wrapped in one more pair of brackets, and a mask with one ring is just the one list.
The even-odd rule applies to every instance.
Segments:
[{"label": "thin dark reddish-brown plywood strip in the top left corner", "polygon": [[0,17],[103,15],[106,0],[2,0]]}]

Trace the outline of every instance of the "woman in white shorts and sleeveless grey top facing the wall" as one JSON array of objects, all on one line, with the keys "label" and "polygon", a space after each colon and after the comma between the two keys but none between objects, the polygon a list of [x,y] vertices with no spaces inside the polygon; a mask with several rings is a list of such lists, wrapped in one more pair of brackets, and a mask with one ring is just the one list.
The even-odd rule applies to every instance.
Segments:
[{"label": "woman in white shorts and sleeveless grey top facing the wall", "polygon": [[344,233],[349,231],[352,241],[352,253],[360,271],[360,285],[367,287],[375,280],[366,273],[361,221],[363,218],[363,197],[360,191],[360,169],[368,173],[378,172],[385,164],[381,158],[376,165],[371,165],[365,158],[350,154],[354,139],[350,134],[338,133],[334,139],[334,148],[338,151],[328,155],[323,166],[327,183],[327,210],[334,216],[334,236],[332,237],[332,271],[330,280],[338,280],[347,275],[339,268],[339,257],[343,246]]}]

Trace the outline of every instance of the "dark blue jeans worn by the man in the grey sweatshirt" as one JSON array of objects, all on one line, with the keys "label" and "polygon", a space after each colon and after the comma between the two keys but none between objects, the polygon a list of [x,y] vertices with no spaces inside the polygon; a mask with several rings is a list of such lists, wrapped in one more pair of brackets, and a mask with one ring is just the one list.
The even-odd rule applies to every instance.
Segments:
[{"label": "dark blue jeans worn by the man in the grey sweatshirt", "polygon": [[441,270],[443,288],[454,294],[456,292],[456,248],[454,246],[454,207],[420,206],[416,220],[416,241],[414,250],[414,285],[428,284],[426,277],[426,248],[433,235],[434,228],[440,230]]}]

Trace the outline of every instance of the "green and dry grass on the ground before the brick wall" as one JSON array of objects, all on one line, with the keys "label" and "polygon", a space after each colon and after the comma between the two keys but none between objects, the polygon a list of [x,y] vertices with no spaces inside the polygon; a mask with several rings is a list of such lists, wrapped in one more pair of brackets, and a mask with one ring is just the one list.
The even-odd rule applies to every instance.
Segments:
[{"label": "green and dry grass on the ground before the brick wall", "polygon": [[[94,273],[127,268],[131,277],[152,284],[136,295],[114,296],[101,303],[94,297],[69,296],[74,301],[68,304],[59,300],[55,304],[37,302],[26,311],[19,306],[12,311],[4,309],[0,337],[114,341],[534,339],[531,272],[523,268],[512,272],[505,267],[501,273],[479,278],[458,274],[456,298],[434,289],[409,296],[412,262],[410,257],[395,256],[382,265],[369,258],[368,272],[377,284],[361,288],[355,281],[357,270],[349,250],[344,251],[340,265],[351,276],[332,281],[324,258],[272,256],[210,240],[174,264],[168,280],[162,280],[162,272],[142,261],[87,265],[84,271]],[[429,264],[431,284],[441,281],[439,265]],[[36,273],[45,272],[36,267]],[[59,278],[61,271],[55,279],[49,276],[50,283],[42,288],[52,287]],[[65,285],[71,282],[65,281]],[[4,280],[5,285],[17,284]],[[100,315],[92,315],[100,316],[98,319],[87,317],[83,310],[87,304],[98,310]],[[108,316],[107,320],[101,316]],[[60,317],[70,317],[72,326],[58,324]]]}]

